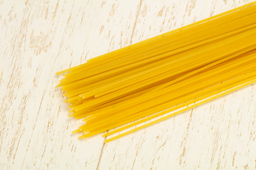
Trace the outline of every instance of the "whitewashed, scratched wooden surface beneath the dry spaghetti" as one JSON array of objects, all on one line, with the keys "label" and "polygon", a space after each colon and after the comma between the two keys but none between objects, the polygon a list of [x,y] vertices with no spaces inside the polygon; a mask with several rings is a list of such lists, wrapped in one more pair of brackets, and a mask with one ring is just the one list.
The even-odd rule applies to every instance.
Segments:
[{"label": "whitewashed, scratched wooden surface beneath the dry spaghetti", "polygon": [[104,144],[57,71],[252,1],[0,0],[0,169],[256,169],[255,84]]}]

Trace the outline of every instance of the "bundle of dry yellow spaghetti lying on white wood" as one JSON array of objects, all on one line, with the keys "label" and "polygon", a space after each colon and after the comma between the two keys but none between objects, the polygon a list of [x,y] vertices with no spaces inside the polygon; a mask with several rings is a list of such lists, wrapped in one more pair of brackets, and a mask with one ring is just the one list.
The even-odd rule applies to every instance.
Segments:
[{"label": "bundle of dry yellow spaghetti lying on white wood", "polygon": [[109,142],[256,82],[255,12],[256,2],[56,73],[67,72],[57,87],[69,117],[86,121],[72,133],[149,121]]}]

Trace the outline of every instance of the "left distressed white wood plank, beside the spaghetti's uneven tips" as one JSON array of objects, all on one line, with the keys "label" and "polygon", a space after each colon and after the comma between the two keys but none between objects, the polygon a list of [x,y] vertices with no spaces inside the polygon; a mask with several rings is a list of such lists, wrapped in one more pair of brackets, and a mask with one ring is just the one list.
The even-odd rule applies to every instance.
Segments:
[{"label": "left distressed white wood plank, beside the spaghetti's uneven tips", "polygon": [[0,3],[1,168],[97,168],[104,138],[71,135],[82,122],[67,117],[54,75],[126,45],[138,2],[126,4]]}]

